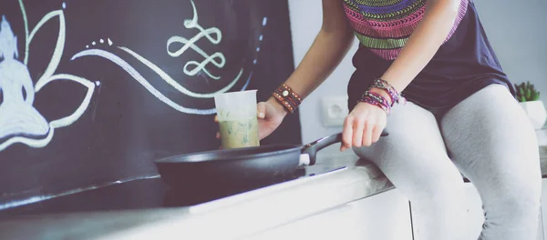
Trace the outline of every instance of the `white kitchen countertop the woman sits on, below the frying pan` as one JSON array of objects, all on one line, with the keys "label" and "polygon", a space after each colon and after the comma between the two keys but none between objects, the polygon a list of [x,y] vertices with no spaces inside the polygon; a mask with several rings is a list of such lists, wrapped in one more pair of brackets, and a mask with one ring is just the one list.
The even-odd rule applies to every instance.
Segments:
[{"label": "white kitchen countertop the woman sits on, below the frying pan", "polygon": [[[545,177],[547,129],[537,134]],[[7,217],[0,212],[0,239],[240,239],[394,188],[375,165],[350,151],[335,154],[332,149],[320,153],[316,165],[306,166],[304,176],[197,204],[166,205],[163,194],[169,193],[168,188],[155,178],[124,184],[134,185],[135,191],[161,193],[116,195],[123,203],[139,199],[127,209],[119,207],[123,203],[108,207],[111,203],[106,200],[82,194],[80,198],[103,207],[71,208],[67,205],[73,200],[45,201],[5,211]]]}]

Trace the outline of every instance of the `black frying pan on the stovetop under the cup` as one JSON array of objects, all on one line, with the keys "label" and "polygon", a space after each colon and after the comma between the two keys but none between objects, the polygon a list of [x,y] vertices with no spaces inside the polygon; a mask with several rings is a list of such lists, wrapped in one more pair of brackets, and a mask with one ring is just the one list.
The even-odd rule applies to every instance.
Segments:
[{"label": "black frying pan on the stovetop under the cup", "polygon": [[[387,136],[382,132],[381,136]],[[173,155],[154,161],[163,181],[171,187],[263,181],[294,174],[300,165],[315,165],[316,154],[342,142],[342,134],[300,145],[263,145]]]}]

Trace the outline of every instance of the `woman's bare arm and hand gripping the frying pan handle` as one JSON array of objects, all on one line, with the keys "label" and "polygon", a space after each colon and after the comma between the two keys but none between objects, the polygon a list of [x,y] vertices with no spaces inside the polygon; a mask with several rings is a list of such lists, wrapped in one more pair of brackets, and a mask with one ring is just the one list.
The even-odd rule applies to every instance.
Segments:
[{"label": "woman's bare arm and hand gripping the frying pan handle", "polygon": [[[424,17],[396,60],[382,75],[398,92],[403,91],[437,53],[456,21],[459,5],[460,0],[428,1]],[[387,101],[390,99],[381,89],[370,91],[384,95]],[[376,143],[386,123],[386,113],[376,105],[357,104],[344,122],[341,150]]]}]

